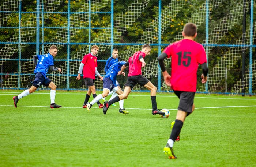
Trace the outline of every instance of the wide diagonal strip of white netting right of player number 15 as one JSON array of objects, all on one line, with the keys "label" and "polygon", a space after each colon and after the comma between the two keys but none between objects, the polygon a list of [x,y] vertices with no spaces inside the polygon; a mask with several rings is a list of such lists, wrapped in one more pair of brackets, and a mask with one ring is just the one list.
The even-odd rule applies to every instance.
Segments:
[{"label": "wide diagonal strip of white netting right of player number 15", "polygon": [[[217,44],[222,37],[230,30],[239,20],[242,19],[244,15],[244,9],[247,12],[250,9],[250,3],[246,3],[246,6],[243,6],[243,1],[241,0],[237,3],[233,10],[224,17],[219,24],[214,28],[214,30],[209,34],[209,43]],[[245,39],[240,37],[236,44],[249,44],[249,31],[247,30]],[[208,52],[213,47],[208,47]],[[223,57],[220,61],[217,62],[215,67],[208,74],[208,90],[215,91],[219,83],[225,77],[226,70],[229,70],[237,60],[242,56],[242,53],[245,52],[246,47],[230,47],[229,51],[223,54]],[[208,57],[210,59],[210,57]],[[204,90],[204,86],[200,87],[201,90]]]}]

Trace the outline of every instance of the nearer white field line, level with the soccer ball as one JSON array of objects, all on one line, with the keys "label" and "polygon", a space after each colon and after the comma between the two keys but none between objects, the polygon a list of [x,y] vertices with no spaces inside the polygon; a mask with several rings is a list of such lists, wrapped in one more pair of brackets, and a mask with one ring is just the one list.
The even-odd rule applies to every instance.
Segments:
[{"label": "nearer white field line, level with the soccer ball", "polygon": [[[0,106],[8,106],[8,107],[14,107],[14,105],[0,105]],[[18,107],[48,107],[50,108],[50,106],[18,106]],[[199,108],[195,108],[195,109],[207,109],[207,108],[233,108],[233,107],[256,107],[256,105],[254,106],[222,106],[222,107],[199,107]],[[61,107],[61,108],[81,108],[82,107]],[[98,107],[92,107],[92,108],[98,108]],[[113,108],[113,107],[109,107],[111,109],[118,109],[118,108]],[[148,109],[148,108],[126,108],[129,110],[152,110],[152,109]],[[15,107],[14,107],[15,110]],[[175,109],[168,109],[168,110],[177,110],[177,108]],[[87,110],[85,110],[87,111]]]}]

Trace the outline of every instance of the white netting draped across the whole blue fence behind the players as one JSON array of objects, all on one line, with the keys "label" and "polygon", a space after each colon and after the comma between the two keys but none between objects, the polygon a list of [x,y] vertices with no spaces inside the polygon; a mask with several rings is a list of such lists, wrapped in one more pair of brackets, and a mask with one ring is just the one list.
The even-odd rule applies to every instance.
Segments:
[{"label": "white netting draped across the whole blue fence behind the players", "polygon": [[[24,0],[23,0],[24,1]],[[80,1],[79,1],[80,2]],[[86,27],[89,27],[89,18],[93,20],[94,17],[98,16],[99,14],[97,12],[102,12],[104,10],[110,9],[110,2],[111,0],[91,0],[91,13],[89,13],[89,1],[84,1],[82,5],[79,6],[77,9],[73,9],[72,3],[71,3],[71,10],[72,12],[78,12],[78,13],[71,13],[70,15],[70,40],[74,40],[73,38],[76,38],[77,36],[81,33],[81,29],[84,29]],[[140,17],[143,17],[143,12],[144,10],[148,10],[148,5],[152,2],[152,0],[135,0],[133,3],[129,4],[127,8],[124,9],[124,11],[120,15],[114,15],[114,28],[113,28],[113,42],[116,43],[120,41],[124,33],[127,31],[127,29],[136,23]],[[223,1],[222,0],[209,0],[208,5],[209,5],[209,15],[210,15],[210,26],[209,26],[209,38],[208,38],[208,43],[209,44],[222,44],[223,37],[232,29],[234,26],[237,24],[241,24],[242,16],[244,15],[244,9],[245,11],[249,11],[249,8],[251,7],[251,2],[246,2],[245,7],[243,6],[243,0],[235,0],[231,2],[228,7],[232,8],[232,10],[229,11],[225,16],[222,18],[219,18],[217,20],[214,20],[211,18],[212,13],[218,9],[219,5],[221,5]],[[255,2],[255,1],[254,1]],[[18,6],[19,6],[20,1],[19,0],[6,0],[4,3],[2,3],[0,10],[1,11],[17,11]],[[197,3],[193,7],[193,13],[191,13],[190,17],[184,17],[186,20],[182,20],[182,24],[186,22],[192,22],[197,25],[198,28],[204,27],[205,21],[206,21],[206,3],[203,1],[187,1],[187,0],[174,0],[170,2],[165,2],[167,5],[164,5],[162,8],[162,17],[161,17],[161,34],[162,37],[164,36],[165,32],[169,30],[170,28],[172,29],[172,25],[174,24],[174,20],[178,20],[177,15],[180,15],[180,11],[183,8],[189,8],[186,5],[192,4],[192,3]],[[58,10],[61,10],[60,5],[67,5],[67,1],[63,0],[43,0],[40,4],[40,11],[44,11],[47,13],[44,13],[44,15],[40,15],[40,26],[42,26],[42,16],[44,16],[43,21],[47,21],[52,19],[51,17],[55,17],[53,13],[50,12],[58,12]],[[37,11],[35,9],[34,11]],[[82,13],[83,12],[83,13]],[[84,13],[85,12],[85,13]],[[107,11],[109,12],[109,11]],[[6,13],[6,12],[1,12],[0,13],[0,26],[3,25],[7,19],[12,16],[12,15],[17,15],[17,13]],[[56,13],[55,19],[58,19],[61,15],[65,15],[65,19],[67,19],[67,13],[65,14],[57,14]],[[18,53],[19,49],[22,49],[25,44],[16,44],[19,41],[20,42],[31,42],[31,40],[35,39],[36,35],[36,30],[37,30],[37,24],[36,24],[36,14],[35,13],[22,13],[22,16],[27,16],[25,19],[22,19],[21,22],[21,28],[20,33],[17,29],[15,34],[10,38],[10,44],[5,44],[4,47],[1,48],[0,50],[0,59],[15,59],[14,53]],[[106,17],[110,18],[110,16]],[[60,20],[61,21],[61,20]],[[68,42],[68,21],[64,20],[64,28],[60,28],[57,30],[54,30],[52,39],[47,39],[46,42],[51,42],[51,43],[56,43],[57,47],[59,49],[62,49],[65,46],[64,43]],[[18,23],[17,23],[18,24]],[[144,29],[143,35],[140,37],[139,40],[137,40],[137,45],[132,45],[128,47],[126,50],[120,50],[119,53],[120,56],[118,57],[119,60],[128,60],[130,56],[133,55],[136,51],[141,49],[141,44],[156,44],[158,43],[158,31],[159,31],[159,20],[158,16],[155,17],[153,20],[148,20],[148,26],[146,29]],[[214,24],[214,25],[211,25]],[[63,25],[63,24],[62,24]],[[46,25],[44,25],[46,26]],[[56,25],[57,26],[57,25]],[[98,27],[101,27],[101,25],[97,25]],[[110,21],[104,25],[105,27],[110,27]],[[103,27],[104,27],[103,26]],[[204,28],[203,28],[204,29]],[[86,30],[88,32],[88,29]],[[176,37],[173,38],[172,41],[174,42],[177,40],[181,40],[183,38],[182,33],[180,30],[175,34]],[[93,30],[91,31],[93,32]],[[78,35],[77,35],[78,34]],[[236,44],[249,44],[249,30],[246,31],[245,38],[243,39],[240,37],[237,41]],[[255,39],[255,34],[253,36],[253,40]],[[87,42],[87,41],[82,41],[82,42]],[[105,43],[111,43],[111,29],[102,29],[97,33],[97,36],[94,37],[91,41],[91,45],[95,43],[102,43],[99,44],[99,55],[102,52],[105,52],[107,49],[110,49],[110,45],[106,45]],[[202,43],[205,43],[203,41]],[[41,54],[47,53],[49,51],[49,48],[52,44],[46,44],[44,45],[44,49],[41,51]],[[90,52],[90,46],[89,45],[77,45],[78,47],[76,48],[76,52],[72,53],[70,55],[69,64],[67,61],[61,61],[64,63],[59,63],[61,64],[59,67],[62,69],[64,75],[60,75],[59,72],[53,72],[49,78],[56,83],[56,85],[60,85],[62,83],[67,83],[67,74],[69,73],[70,75],[76,75],[78,72],[79,64],[80,61],[82,60],[83,56],[87,53]],[[20,48],[19,48],[20,47]],[[163,47],[162,47],[163,48]],[[153,47],[155,51],[157,50],[156,47]],[[213,51],[214,47],[208,47],[208,59],[212,59],[211,53]],[[223,56],[221,57],[220,60],[215,60],[215,67],[210,67],[210,73],[208,75],[208,90],[210,92],[216,91],[218,86],[221,84],[223,79],[225,79],[225,74],[226,70],[229,70],[233,67],[234,64],[237,63],[238,60],[241,59],[242,53],[245,52],[245,49],[248,49],[246,47],[229,47],[228,51],[223,52]],[[34,52],[34,55],[36,52]],[[17,54],[16,54],[17,55]],[[17,80],[18,80],[18,74],[21,77],[21,85],[26,86],[27,85],[27,80],[30,80],[29,75],[26,75],[28,73],[32,74],[34,70],[34,65],[32,61],[32,57],[34,55],[31,55],[31,59],[28,61],[21,61],[21,69],[18,73],[15,72],[15,75],[10,75],[9,79],[4,82],[4,87],[18,87],[17,85]],[[58,56],[56,59],[58,59]],[[215,56],[215,55],[212,55]],[[17,59],[17,58],[16,58]],[[4,62],[5,60],[0,60],[0,65]],[[171,59],[166,59],[165,64],[166,66],[170,66]],[[69,65],[69,70],[68,70],[68,65]],[[255,61],[253,61],[252,64],[252,84],[255,84]],[[151,60],[149,63],[147,63],[146,67],[142,69],[142,73],[144,76],[150,79],[150,77],[157,77],[158,76],[158,61],[157,61],[157,56]],[[23,75],[24,73],[24,75]],[[101,71],[101,74],[104,72]],[[241,81],[238,81],[237,84],[233,87],[233,92],[241,92],[241,88],[246,88],[248,89],[249,85],[249,73],[248,70],[246,71],[245,74],[245,82],[244,84]],[[95,86],[97,88],[102,88],[102,81],[100,81],[98,78],[96,78],[95,81]],[[162,84],[162,90],[170,90],[169,87],[166,87],[166,85],[163,83]],[[134,90],[141,90],[141,86],[136,86]],[[200,91],[204,91],[204,85],[199,87]]]}]

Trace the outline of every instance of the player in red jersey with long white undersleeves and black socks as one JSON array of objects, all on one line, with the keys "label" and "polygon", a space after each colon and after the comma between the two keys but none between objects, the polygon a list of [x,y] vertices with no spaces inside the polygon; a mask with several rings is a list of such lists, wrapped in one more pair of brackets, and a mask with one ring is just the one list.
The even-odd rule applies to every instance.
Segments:
[{"label": "player in red jersey with long white undersleeves and black socks", "polygon": [[[95,98],[96,95],[96,88],[94,85],[95,82],[95,74],[103,80],[103,77],[99,74],[97,70],[97,53],[98,53],[99,47],[96,45],[93,45],[91,47],[91,53],[84,55],[83,60],[80,64],[78,76],[76,77],[77,80],[81,79],[81,74],[83,71],[83,78],[85,86],[88,87],[88,91],[85,96],[85,100],[83,103],[83,108],[86,108],[86,104],[88,103],[91,93],[93,94],[93,98]],[[99,108],[103,107],[103,104],[101,104],[99,101],[97,102]]]}]

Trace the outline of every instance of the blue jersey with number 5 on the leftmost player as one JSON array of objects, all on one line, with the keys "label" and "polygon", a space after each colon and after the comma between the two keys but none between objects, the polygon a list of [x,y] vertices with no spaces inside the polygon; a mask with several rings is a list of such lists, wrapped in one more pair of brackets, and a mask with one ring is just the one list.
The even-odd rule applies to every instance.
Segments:
[{"label": "blue jersey with number 5 on the leftmost player", "polygon": [[37,57],[39,61],[37,67],[35,67],[34,73],[41,72],[46,79],[46,73],[48,72],[49,67],[54,65],[53,56],[48,53],[45,55],[37,55]]}]

